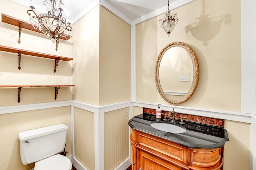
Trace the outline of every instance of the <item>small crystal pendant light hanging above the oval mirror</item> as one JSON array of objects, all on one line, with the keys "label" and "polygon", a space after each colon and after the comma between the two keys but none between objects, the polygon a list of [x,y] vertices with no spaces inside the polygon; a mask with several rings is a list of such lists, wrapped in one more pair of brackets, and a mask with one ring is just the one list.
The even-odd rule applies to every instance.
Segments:
[{"label": "small crystal pendant light hanging above the oval mirror", "polygon": [[160,19],[160,26],[164,29],[164,31],[166,33],[168,33],[168,37],[170,36],[170,33],[172,32],[172,30],[174,29],[174,26],[177,25],[178,23],[178,18],[177,18],[177,14],[175,13],[174,15],[172,15],[172,13],[170,13],[170,6],[169,6],[169,0],[168,0],[168,13],[165,14],[163,19]]}]

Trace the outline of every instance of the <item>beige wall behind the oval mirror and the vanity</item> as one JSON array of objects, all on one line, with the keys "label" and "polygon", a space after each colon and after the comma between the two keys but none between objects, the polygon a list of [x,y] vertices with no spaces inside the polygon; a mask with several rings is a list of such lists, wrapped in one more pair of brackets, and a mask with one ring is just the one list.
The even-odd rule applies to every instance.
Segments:
[{"label": "beige wall behind the oval mirror and the vanity", "polygon": [[[205,2],[204,10],[202,2]],[[157,91],[154,67],[165,45],[181,41],[190,45],[196,53],[200,77],[194,95],[180,106],[240,112],[240,8],[240,0],[196,0],[172,11],[178,14],[179,23],[170,37],[158,25],[164,15],[137,24],[137,101],[168,104]],[[213,23],[209,24],[211,19]],[[198,27],[193,28],[196,22],[199,22]],[[140,111],[142,109],[134,107],[134,115]],[[250,124],[226,120],[225,129],[230,141],[224,147],[224,169],[249,170]]]}]

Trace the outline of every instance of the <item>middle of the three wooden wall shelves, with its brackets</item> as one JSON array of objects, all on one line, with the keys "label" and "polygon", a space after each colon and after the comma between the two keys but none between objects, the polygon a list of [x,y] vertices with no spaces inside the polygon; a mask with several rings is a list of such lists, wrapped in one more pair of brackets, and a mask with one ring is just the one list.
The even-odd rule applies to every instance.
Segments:
[{"label": "middle of the three wooden wall shelves, with its brackets", "polygon": [[57,56],[57,55],[49,55],[49,54],[44,54],[44,53],[38,53],[38,52],[34,52],[34,51],[28,51],[28,50],[23,50],[23,49],[16,49],[16,48],[12,48],[12,47],[6,47],[3,45],[0,45],[0,51],[6,51],[6,52],[10,52],[10,53],[17,53],[18,57],[19,57],[19,66],[18,69],[20,70],[20,60],[21,60],[21,55],[31,55],[31,56],[35,56],[35,57],[42,57],[42,58],[47,58],[47,59],[54,59],[55,60],[55,64],[54,64],[54,72],[56,72],[56,68],[58,66],[58,63],[60,60],[62,61],[71,61],[73,60],[72,58],[68,58],[68,57],[61,57],[61,56]]}]

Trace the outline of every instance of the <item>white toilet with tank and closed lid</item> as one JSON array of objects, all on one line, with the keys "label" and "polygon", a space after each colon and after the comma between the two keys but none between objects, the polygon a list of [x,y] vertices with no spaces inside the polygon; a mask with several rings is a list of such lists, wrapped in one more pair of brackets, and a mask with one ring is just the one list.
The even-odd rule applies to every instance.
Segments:
[{"label": "white toilet with tank and closed lid", "polygon": [[35,163],[34,170],[71,170],[72,163],[62,152],[68,127],[64,124],[23,131],[20,140],[20,158],[24,165]]}]

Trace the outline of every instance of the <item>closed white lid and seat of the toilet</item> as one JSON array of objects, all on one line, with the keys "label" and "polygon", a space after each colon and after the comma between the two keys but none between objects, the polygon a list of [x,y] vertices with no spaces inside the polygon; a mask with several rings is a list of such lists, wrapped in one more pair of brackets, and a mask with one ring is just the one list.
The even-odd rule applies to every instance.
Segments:
[{"label": "closed white lid and seat of the toilet", "polygon": [[71,170],[72,163],[69,158],[56,154],[36,162],[34,170]]}]

